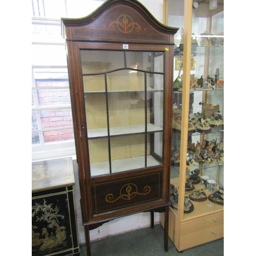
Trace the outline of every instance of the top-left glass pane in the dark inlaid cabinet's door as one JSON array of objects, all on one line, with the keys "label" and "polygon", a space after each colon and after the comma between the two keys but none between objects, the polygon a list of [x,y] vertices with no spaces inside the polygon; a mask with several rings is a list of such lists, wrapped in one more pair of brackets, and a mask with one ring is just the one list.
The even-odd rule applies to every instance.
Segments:
[{"label": "top-left glass pane in the dark inlaid cabinet's door", "polygon": [[123,51],[81,50],[83,74],[103,73],[124,68]]}]

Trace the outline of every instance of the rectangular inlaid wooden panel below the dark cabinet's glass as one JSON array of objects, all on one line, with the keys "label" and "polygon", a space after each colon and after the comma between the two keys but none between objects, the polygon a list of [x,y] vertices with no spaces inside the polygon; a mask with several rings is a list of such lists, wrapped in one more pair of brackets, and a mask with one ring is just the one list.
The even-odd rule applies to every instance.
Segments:
[{"label": "rectangular inlaid wooden panel below the dark cabinet's glass", "polygon": [[161,184],[162,172],[95,183],[92,186],[94,213],[159,200],[162,197]]}]

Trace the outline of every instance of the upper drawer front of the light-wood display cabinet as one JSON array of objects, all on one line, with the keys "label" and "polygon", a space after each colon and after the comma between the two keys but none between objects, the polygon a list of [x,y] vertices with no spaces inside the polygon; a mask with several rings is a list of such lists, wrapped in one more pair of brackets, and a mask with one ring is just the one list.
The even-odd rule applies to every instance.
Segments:
[{"label": "upper drawer front of the light-wood display cabinet", "polygon": [[215,227],[224,223],[224,212],[218,212],[202,218],[181,223],[180,236],[186,236],[207,228]]}]

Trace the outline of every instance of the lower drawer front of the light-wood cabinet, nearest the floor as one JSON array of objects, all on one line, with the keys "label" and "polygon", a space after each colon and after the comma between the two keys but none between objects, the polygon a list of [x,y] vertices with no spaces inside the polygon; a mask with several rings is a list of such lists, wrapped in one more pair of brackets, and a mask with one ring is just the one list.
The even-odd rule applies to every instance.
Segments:
[{"label": "lower drawer front of the light-wood cabinet, nearest the floor", "polygon": [[187,234],[180,238],[179,250],[186,250],[224,237],[224,224]]}]

